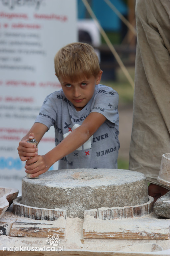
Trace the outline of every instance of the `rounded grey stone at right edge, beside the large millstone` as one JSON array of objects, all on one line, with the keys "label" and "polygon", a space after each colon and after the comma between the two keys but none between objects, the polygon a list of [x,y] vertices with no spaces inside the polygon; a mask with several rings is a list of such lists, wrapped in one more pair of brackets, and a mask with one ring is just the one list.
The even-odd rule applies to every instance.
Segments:
[{"label": "rounded grey stone at right edge, beside the large millstone", "polygon": [[157,215],[170,219],[170,191],[157,199],[153,209]]}]

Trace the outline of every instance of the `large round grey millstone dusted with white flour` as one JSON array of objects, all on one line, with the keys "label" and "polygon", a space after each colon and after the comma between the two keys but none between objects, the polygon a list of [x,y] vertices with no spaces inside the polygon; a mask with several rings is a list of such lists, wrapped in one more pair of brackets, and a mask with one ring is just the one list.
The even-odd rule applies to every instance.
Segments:
[{"label": "large round grey millstone dusted with white flour", "polygon": [[148,201],[144,174],[119,169],[47,171],[38,179],[22,180],[22,204],[65,209],[67,216],[84,218],[84,210],[123,207]]}]

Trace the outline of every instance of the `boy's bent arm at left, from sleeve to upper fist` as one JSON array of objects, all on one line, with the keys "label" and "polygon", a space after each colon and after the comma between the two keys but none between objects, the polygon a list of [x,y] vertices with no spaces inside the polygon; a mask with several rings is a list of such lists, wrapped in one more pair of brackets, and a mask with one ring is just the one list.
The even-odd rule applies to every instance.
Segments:
[{"label": "boy's bent arm at left, from sleeve to upper fist", "polygon": [[44,133],[48,130],[47,126],[41,123],[35,123],[30,131],[22,138],[18,146],[18,154],[22,161],[30,159],[30,157],[36,156],[37,148],[34,144],[28,143],[29,139],[36,138],[38,142],[42,139]]}]

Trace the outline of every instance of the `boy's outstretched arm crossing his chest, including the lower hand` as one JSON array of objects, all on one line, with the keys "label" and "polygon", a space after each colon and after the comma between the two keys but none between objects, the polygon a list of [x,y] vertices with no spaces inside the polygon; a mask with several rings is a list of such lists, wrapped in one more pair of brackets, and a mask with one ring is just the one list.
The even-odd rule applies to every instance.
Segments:
[{"label": "boy's outstretched arm crossing his chest, including the lower hand", "polygon": [[105,121],[106,117],[104,115],[97,112],[90,113],[83,123],[55,148],[43,156],[35,156],[29,159],[25,166],[26,172],[32,173],[33,178],[46,172],[56,161],[83,145]]}]

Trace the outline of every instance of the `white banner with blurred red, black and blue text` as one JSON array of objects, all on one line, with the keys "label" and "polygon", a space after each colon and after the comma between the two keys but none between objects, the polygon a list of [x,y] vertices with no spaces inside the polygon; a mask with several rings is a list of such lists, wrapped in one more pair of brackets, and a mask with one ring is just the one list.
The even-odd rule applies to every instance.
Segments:
[{"label": "white banner with blurred red, black and blue text", "polygon": [[[26,173],[18,143],[44,98],[61,88],[53,59],[59,48],[77,41],[76,16],[76,0],[0,0],[0,186],[20,194]],[[52,127],[38,153],[54,146]]]}]

